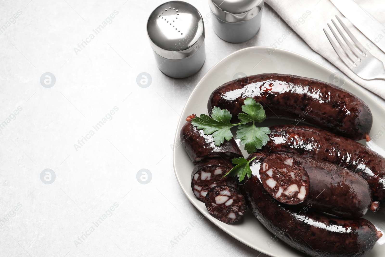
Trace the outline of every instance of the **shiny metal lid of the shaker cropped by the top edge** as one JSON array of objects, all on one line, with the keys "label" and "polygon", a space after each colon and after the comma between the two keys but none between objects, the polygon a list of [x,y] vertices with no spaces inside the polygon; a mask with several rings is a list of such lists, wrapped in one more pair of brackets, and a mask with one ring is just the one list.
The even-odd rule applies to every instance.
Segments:
[{"label": "shiny metal lid of the shaker cropped by the top edge", "polygon": [[211,11],[226,22],[244,22],[254,18],[264,0],[209,0]]}]

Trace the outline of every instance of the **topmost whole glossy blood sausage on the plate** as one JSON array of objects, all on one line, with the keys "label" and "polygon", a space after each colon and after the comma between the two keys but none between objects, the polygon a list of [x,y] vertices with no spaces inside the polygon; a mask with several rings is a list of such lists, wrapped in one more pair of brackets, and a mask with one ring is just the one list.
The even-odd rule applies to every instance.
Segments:
[{"label": "topmost whole glossy blood sausage on the plate", "polygon": [[332,84],[286,74],[259,74],[227,82],[215,89],[208,111],[217,106],[227,109],[238,121],[243,101],[253,97],[268,118],[294,119],[314,124],[333,133],[370,140],[372,113],[365,102]]}]

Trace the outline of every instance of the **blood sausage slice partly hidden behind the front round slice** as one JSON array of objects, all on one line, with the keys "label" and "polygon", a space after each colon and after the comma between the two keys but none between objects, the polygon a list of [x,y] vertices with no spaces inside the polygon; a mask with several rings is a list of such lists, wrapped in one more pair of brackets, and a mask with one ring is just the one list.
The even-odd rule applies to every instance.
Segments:
[{"label": "blood sausage slice partly hidden behind the front round slice", "polygon": [[233,165],[222,158],[205,159],[197,163],[192,171],[191,188],[194,195],[204,202],[207,192],[214,186],[237,187],[234,177],[225,176]]}]

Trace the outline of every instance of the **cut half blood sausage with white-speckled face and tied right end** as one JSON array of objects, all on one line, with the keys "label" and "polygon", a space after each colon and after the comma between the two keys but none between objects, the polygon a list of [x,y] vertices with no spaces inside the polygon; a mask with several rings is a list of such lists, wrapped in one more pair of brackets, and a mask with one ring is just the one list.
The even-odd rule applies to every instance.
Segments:
[{"label": "cut half blood sausage with white-speckled face and tied right end", "polygon": [[344,218],[375,212],[372,191],[362,176],[328,161],[287,153],[268,155],[259,170],[262,184],[280,203],[300,204]]}]

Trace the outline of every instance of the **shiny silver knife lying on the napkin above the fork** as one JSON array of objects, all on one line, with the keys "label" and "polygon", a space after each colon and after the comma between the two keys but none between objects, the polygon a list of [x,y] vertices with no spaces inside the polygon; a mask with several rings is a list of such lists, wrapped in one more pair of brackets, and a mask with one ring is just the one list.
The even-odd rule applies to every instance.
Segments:
[{"label": "shiny silver knife lying on the napkin above the fork", "polygon": [[381,22],[353,0],[331,0],[331,2],[362,34],[385,53],[385,26]]}]

